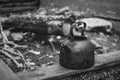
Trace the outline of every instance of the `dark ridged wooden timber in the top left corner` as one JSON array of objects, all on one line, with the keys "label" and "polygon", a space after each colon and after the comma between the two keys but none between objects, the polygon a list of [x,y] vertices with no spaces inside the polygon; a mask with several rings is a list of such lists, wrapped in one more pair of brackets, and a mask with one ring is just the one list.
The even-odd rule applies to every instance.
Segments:
[{"label": "dark ridged wooden timber in the top left corner", "polygon": [[4,0],[0,1],[0,13],[34,10],[39,6],[40,0]]}]

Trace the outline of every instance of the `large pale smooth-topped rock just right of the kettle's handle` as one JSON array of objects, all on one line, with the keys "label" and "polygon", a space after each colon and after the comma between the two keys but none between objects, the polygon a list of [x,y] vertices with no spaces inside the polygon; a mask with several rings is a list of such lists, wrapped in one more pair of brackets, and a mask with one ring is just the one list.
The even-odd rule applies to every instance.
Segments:
[{"label": "large pale smooth-topped rock just right of the kettle's handle", "polygon": [[100,18],[83,18],[80,21],[87,24],[87,31],[111,32],[113,27],[110,21]]}]

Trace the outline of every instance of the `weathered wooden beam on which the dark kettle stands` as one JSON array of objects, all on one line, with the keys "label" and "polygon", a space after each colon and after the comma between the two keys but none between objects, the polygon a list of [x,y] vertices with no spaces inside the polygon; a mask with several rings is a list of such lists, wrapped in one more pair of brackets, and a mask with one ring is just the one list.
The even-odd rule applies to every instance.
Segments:
[{"label": "weathered wooden beam on which the dark kettle stands", "polygon": [[86,70],[70,70],[61,67],[59,64],[55,64],[48,67],[42,67],[35,71],[24,71],[18,73],[17,75],[26,80],[54,80],[90,70],[97,70],[100,68],[113,66],[119,63],[120,51],[116,51],[108,54],[95,55],[95,65]]}]

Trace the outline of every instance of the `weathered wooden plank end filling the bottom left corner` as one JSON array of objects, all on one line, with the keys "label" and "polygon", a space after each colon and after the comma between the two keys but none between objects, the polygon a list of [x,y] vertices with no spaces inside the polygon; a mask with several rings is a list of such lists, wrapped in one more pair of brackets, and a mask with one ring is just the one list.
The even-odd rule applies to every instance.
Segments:
[{"label": "weathered wooden plank end filling the bottom left corner", "polygon": [[18,76],[1,59],[0,80],[20,80]]}]

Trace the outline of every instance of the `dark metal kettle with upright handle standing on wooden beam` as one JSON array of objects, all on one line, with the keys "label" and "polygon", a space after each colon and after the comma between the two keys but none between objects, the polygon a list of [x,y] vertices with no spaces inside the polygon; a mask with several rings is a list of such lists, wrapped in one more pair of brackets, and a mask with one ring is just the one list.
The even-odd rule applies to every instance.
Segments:
[{"label": "dark metal kettle with upright handle standing on wooden beam", "polygon": [[[65,39],[61,44],[59,62],[68,69],[87,69],[94,65],[94,49],[90,39],[81,35],[74,35],[75,26],[71,26],[71,37]],[[83,32],[83,31],[81,31]]]}]

